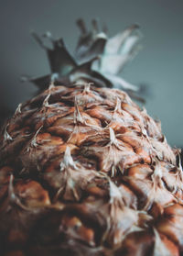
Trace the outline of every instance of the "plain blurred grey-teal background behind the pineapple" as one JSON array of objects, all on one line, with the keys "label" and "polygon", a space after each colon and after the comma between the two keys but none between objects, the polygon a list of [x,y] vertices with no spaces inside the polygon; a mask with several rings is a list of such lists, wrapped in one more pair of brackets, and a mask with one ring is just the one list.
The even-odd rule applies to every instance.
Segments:
[{"label": "plain blurred grey-teal background behind the pineapple", "polygon": [[75,21],[93,17],[107,24],[109,34],[137,23],[143,49],[124,69],[130,83],[146,84],[145,107],[162,122],[172,146],[183,148],[183,1],[180,0],[0,0],[0,122],[11,116],[19,102],[35,94],[31,83],[21,83],[23,74],[49,72],[44,50],[30,31],[49,30],[62,37],[70,51],[79,36]]}]

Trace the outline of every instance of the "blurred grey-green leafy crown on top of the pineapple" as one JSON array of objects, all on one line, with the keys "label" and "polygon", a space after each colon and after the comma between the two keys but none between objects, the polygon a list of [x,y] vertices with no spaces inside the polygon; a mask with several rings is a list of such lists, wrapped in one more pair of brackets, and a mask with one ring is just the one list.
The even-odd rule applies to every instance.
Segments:
[{"label": "blurred grey-green leafy crown on top of the pineapple", "polygon": [[[91,30],[86,28],[82,19],[77,20],[77,25],[81,35],[73,56],[67,50],[63,39],[53,39],[50,32],[42,37],[32,32],[34,39],[47,52],[50,73],[36,78],[26,76],[22,80],[35,83],[39,91],[47,89],[50,83],[66,86],[93,83],[98,87],[123,89],[133,98],[144,102],[144,99],[138,96],[140,87],[126,82],[119,76],[125,64],[134,58],[140,48],[139,27],[132,25],[108,38],[107,28],[100,29],[96,19],[92,20]],[[45,44],[45,39],[50,40],[52,48]]]}]

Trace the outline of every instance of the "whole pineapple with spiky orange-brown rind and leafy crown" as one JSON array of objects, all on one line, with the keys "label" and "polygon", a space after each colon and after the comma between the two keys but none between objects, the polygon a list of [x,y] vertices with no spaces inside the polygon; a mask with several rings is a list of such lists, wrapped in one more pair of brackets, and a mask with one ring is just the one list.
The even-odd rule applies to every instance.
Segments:
[{"label": "whole pineapple with spiky orange-brown rind and leafy crown", "polygon": [[117,75],[138,49],[137,27],[107,39],[96,21],[92,32],[78,25],[75,59],[61,39],[44,35],[49,49],[34,33],[51,74],[30,79],[39,94],[2,131],[0,255],[178,256],[178,150]]}]

